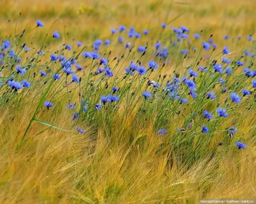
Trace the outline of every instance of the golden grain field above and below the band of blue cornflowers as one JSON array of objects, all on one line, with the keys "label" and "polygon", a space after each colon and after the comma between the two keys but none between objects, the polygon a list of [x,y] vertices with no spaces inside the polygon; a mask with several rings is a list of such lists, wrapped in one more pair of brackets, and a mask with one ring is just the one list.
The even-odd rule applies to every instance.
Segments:
[{"label": "golden grain field above and below the band of blue cornflowers", "polygon": [[[47,29],[54,22],[49,33],[68,33],[63,34],[63,43],[106,39],[109,29],[119,25],[154,34],[161,22],[173,20],[169,27],[185,25],[194,33],[204,29],[205,35],[220,39],[221,47],[225,34],[245,38],[255,33],[255,10],[254,0],[1,0],[0,36],[1,40],[13,36],[21,12],[17,33],[32,29],[36,19]],[[47,29],[36,33],[36,38],[44,38]],[[33,35],[24,39],[29,41]],[[131,115],[122,127],[125,131],[118,127],[122,119],[116,117],[109,127],[113,135],[90,127],[83,137],[49,129],[20,147],[35,108],[0,110],[0,203],[198,203],[201,198],[256,198],[256,147],[250,143],[246,151],[219,149],[211,161],[200,160],[188,170],[179,165],[172,146],[156,154],[163,138],[156,137],[153,127],[147,127],[147,133],[152,129],[147,145],[140,147],[135,138],[127,147]],[[52,122],[68,129],[67,112],[60,108],[58,114]],[[52,115],[47,117],[50,120]],[[248,127],[255,127],[255,113],[240,122],[246,124],[240,133],[250,134],[248,142],[253,143],[256,130]],[[28,137],[38,129],[42,124],[33,124]],[[145,131],[141,129],[142,137]],[[168,157],[174,158],[172,166]]]}]

